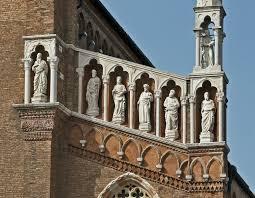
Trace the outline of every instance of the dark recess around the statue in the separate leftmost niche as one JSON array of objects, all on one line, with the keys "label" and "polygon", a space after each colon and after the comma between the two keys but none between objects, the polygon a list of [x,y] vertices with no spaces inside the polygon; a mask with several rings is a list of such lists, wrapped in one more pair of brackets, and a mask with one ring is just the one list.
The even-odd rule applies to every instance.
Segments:
[{"label": "dark recess around the statue in the separate leftmost niche", "polygon": [[[49,57],[49,53],[47,51],[45,51],[45,48],[43,45],[36,46],[35,51],[30,56],[30,58],[33,60],[32,67],[35,64],[36,57],[37,57],[38,53],[42,54],[42,60],[44,60],[48,66],[46,96],[49,100],[49,96],[50,96],[50,67],[49,67],[49,62],[47,61],[47,58]],[[34,95],[34,81],[35,81],[34,77],[35,77],[35,72],[33,71],[33,72],[31,72],[31,96]]]}]

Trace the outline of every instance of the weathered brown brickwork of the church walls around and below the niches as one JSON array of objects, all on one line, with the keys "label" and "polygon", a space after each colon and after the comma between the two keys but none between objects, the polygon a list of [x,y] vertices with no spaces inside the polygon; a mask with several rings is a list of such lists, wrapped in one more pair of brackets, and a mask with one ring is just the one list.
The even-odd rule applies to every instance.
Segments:
[{"label": "weathered brown brickwork of the church walls around and below the niches", "polygon": [[[221,178],[228,169],[224,146],[177,148],[73,116],[70,110],[77,112],[78,106],[78,53],[68,47],[56,46],[58,102],[66,108],[13,105],[23,104],[24,98],[22,37],[56,34],[65,43],[79,46],[77,2],[0,2],[0,198],[95,198],[126,172],[149,182],[161,198],[246,196],[237,179],[227,189]],[[98,23],[94,27],[117,46],[115,52],[122,46],[122,58],[144,63],[144,57],[116,33],[93,1],[84,2],[93,12],[91,21]],[[84,147],[80,140],[86,140]],[[192,176],[191,181],[186,176]]]}]

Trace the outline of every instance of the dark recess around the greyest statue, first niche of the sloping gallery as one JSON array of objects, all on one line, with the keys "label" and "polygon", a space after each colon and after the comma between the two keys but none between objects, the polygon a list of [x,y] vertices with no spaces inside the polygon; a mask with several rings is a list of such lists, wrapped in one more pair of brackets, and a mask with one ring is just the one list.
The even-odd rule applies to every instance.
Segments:
[{"label": "dark recess around the greyest statue, first niche of the sloping gallery", "polygon": [[86,100],[86,93],[87,93],[87,87],[88,87],[88,82],[92,77],[92,70],[96,70],[97,73],[97,77],[100,79],[100,88],[99,88],[99,98],[98,98],[98,106],[99,106],[99,116],[98,118],[102,118],[102,114],[103,114],[103,96],[102,96],[102,91],[103,91],[103,87],[102,87],[102,75],[103,75],[103,67],[102,65],[98,64],[96,60],[91,60],[89,65],[85,66],[84,69],[84,79],[83,79],[83,90],[84,90],[84,94],[83,94],[83,112],[84,114],[86,114],[86,110],[88,108],[88,102]]}]

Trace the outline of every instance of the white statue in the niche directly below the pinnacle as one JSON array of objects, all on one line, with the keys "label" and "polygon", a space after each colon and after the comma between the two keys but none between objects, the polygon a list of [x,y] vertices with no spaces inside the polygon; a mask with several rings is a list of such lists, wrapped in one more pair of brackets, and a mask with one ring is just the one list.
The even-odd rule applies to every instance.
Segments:
[{"label": "white statue in the niche directly below the pinnacle", "polygon": [[215,122],[215,104],[214,101],[209,98],[209,93],[205,92],[204,100],[201,104],[201,128],[200,142],[212,142],[213,141],[213,129]]}]

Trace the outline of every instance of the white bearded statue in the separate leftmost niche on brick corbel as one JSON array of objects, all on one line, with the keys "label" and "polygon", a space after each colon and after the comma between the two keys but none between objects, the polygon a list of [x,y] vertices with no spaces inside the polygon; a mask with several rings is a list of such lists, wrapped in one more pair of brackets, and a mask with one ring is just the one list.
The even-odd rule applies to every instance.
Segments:
[{"label": "white bearded statue in the separate leftmost niche on brick corbel", "polygon": [[48,65],[46,61],[42,60],[42,54],[38,53],[36,61],[32,66],[32,71],[35,73],[34,76],[34,95],[32,102],[46,102],[47,101],[47,75]]}]

